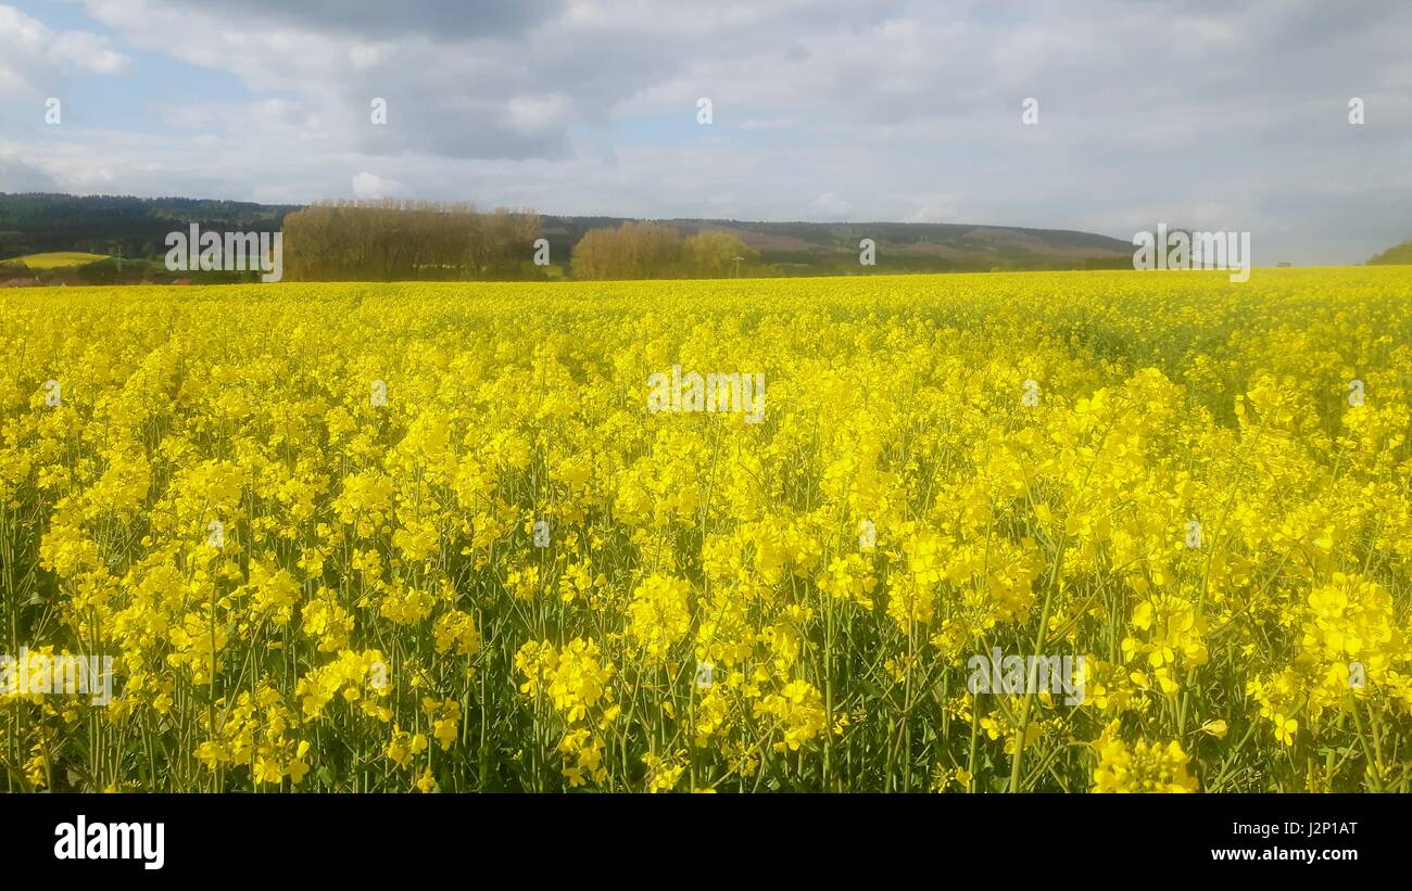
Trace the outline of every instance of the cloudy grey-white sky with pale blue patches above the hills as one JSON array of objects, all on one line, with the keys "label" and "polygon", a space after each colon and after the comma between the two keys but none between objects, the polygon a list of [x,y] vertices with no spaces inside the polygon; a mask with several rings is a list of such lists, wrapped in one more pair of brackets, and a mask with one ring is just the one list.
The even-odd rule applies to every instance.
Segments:
[{"label": "cloudy grey-white sky with pale blue patches above the hills", "polygon": [[1361,262],[1412,238],[1409,48],[1405,0],[0,0],[0,192],[1165,221]]}]

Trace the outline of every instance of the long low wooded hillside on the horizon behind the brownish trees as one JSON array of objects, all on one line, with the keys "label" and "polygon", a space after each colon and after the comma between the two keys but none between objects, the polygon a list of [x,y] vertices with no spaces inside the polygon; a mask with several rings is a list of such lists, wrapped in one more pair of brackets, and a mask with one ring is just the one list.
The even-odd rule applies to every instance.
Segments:
[{"label": "long low wooded hillside on the horizon behind the brownish trees", "polygon": [[[270,231],[297,204],[254,204],[185,197],[78,197],[0,193],[0,261],[27,254],[82,251],[126,259],[160,259],[168,233],[192,223],[213,231]],[[566,264],[590,228],[628,217],[542,216],[556,264]],[[746,223],[659,220],[683,235],[723,230],[760,251],[774,275],[858,274],[858,241],[873,238],[868,272],[973,272],[987,269],[1096,269],[1131,265],[1132,245],[1067,230],[956,223]],[[287,250],[297,250],[287,245]]]}]

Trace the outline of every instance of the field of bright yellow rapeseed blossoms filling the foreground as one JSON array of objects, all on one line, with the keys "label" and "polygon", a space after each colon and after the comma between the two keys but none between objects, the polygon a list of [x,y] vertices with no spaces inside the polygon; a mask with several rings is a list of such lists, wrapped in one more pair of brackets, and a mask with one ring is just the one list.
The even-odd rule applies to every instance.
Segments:
[{"label": "field of bright yellow rapeseed blossoms filling the foreground", "polygon": [[1409,410],[1412,268],[11,290],[4,782],[1409,791]]}]

